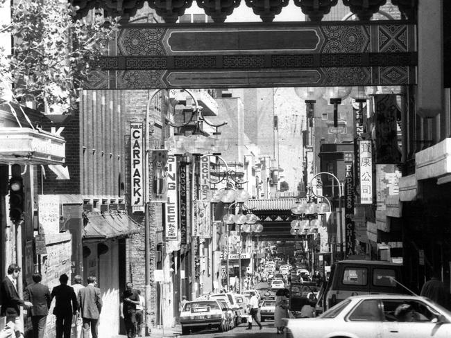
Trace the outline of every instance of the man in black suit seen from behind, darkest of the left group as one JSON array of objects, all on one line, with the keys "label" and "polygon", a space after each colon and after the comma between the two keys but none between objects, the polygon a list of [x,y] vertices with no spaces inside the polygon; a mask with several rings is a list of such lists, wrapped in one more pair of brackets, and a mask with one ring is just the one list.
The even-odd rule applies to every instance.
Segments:
[{"label": "man in black suit seen from behind, darkest of the left group", "polygon": [[67,285],[67,274],[60,276],[60,285],[51,290],[51,299],[56,299],[53,314],[56,315],[56,338],[70,338],[72,316],[77,313],[77,297],[74,288]]}]

